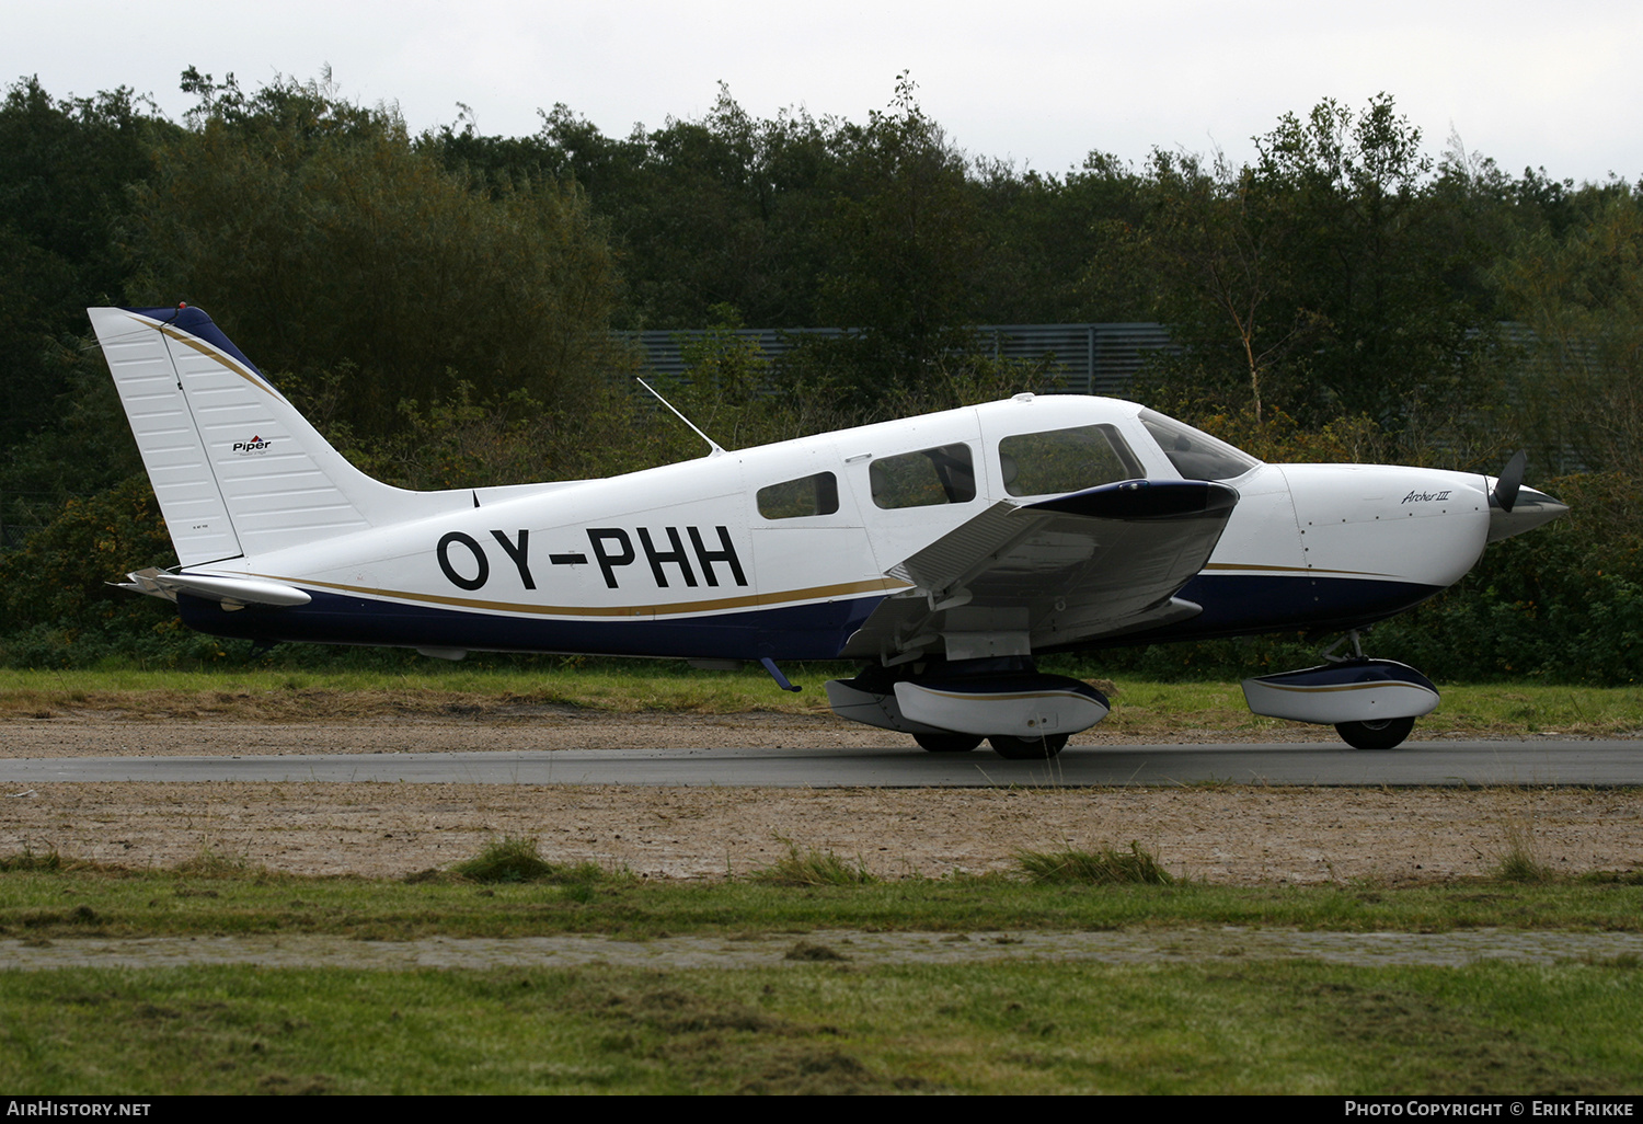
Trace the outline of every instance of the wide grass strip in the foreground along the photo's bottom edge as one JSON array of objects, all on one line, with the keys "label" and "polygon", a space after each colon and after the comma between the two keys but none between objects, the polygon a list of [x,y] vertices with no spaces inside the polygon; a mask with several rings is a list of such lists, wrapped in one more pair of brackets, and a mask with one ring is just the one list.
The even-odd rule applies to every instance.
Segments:
[{"label": "wide grass strip in the foreground along the photo's bottom edge", "polygon": [[158,1093],[1636,1093],[1643,970],[974,963],[0,974],[0,1085]]}]

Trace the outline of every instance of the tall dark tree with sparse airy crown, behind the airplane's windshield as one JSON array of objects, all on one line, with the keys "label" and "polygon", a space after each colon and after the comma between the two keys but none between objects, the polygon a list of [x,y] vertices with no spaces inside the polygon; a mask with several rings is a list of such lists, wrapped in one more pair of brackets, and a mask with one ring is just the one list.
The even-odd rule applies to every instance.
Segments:
[{"label": "tall dark tree with sparse airy crown, behind the airplane's windshield", "polygon": [[1332,100],[1288,113],[1255,143],[1244,168],[1155,151],[1144,212],[1099,228],[1088,288],[1114,261],[1153,284],[1185,347],[1165,365],[1176,394],[1231,404],[1236,371],[1257,414],[1313,427],[1365,414],[1423,439],[1449,426],[1484,386],[1487,245],[1464,217],[1498,177],[1457,158],[1433,181],[1420,130],[1385,94],[1360,113]]}]

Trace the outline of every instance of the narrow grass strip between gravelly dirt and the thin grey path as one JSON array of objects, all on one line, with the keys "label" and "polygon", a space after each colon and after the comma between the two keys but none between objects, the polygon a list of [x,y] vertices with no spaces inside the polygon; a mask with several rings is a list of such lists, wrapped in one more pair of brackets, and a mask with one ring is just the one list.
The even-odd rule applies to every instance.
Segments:
[{"label": "narrow grass strip between gravelly dirt and the thin grey path", "polygon": [[[72,864],[71,864],[72,866]],[[1607,878],[1607,881],[1605,881]],[[1017,878],[780,884],[296,878],[253,871],[0,874],[0,937],[278,935],[366,940],[810,930],[933,932],[1288,927],[1334,932],[1643,928],[1635,874],[1521,884],[1227,887],[1029,884]]]}]

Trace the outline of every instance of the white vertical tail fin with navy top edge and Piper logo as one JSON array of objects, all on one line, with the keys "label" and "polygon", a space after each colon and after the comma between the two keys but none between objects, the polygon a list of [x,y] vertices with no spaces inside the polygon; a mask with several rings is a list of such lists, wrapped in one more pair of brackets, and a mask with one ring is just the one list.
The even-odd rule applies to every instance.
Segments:
[{"label": "white vertical tail fin with navy top edge and Piper logo", "polygon": [[87,314],[182,565],[398,523],[439,495],[343,460],[202,311]]}]

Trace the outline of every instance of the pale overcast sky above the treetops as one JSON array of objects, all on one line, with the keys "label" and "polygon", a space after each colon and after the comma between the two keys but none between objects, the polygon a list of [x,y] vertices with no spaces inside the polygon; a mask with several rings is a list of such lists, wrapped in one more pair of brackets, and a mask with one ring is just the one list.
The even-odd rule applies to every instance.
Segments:
[{"label": "pale overcast sky above the treetops", "polygon": [[1518,174],[1643,174],[1643,3],[1380,0],[284,0],[7,5],[0,77],[54,95],[115,85],[173,117],[197,66],[246,89],[332,67],[345,97],[398,102],[412,130],[473,107],[527,135],[564,102],[605,133],[700,117],[726,82],[756,117],[864,120],[909,71],[973,156],[1065,173],[1091,150],[1250,159],[1250,138],[1324,97],[1397,99],[1438,156],[1451,131]]}]

